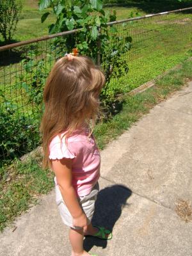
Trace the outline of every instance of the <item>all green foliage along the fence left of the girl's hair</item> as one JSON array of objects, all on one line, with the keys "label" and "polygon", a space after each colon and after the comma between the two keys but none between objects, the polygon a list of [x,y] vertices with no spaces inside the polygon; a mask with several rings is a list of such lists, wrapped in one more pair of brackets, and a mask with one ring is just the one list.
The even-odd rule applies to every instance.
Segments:
[{"label": "all green foliage along the fence left of the girl's hair", "polygon": [[[0,159],[1,164],[10,161],[15,157],[20,157],[30,152],[39,145],[39,123],[42,113],[42,94],[45,79],[49,74],[49,68],[45,65],[44,58],[36,60],[40,52],[30,50],[23,59],[22,67],[26,72],[15,76],[15,89],[20,90],[25,95],[28,105],[33,104],[32,115],[19,113],[19,106],[14,105],[4,96],[0,90],[0,98],[3,104],[0,106]],[[48,55],[48,54],[47,54]],[[49,60],[49,56],[45,56]]]}]

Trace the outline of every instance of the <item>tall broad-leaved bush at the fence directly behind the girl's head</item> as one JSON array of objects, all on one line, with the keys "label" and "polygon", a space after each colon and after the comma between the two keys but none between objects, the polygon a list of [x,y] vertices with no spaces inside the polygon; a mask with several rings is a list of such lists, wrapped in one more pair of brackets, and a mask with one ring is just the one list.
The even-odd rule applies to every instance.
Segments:
[{"label": "tall broad-leaved bush at the fence directly behind the girl's head", "polygon": [[[81,28],[81,31],[65,36],[58,37],[56,45],[60,44],[59,49],[72,52],[77,47],[80,54],[90,56],[95,63],[102,67],[106,75],[106,86],[102,91],[102,101],[104,105],[114,100],[108,93],[110,81],[114,77],[127,74],[129,68],[127,62],[122,58],[123,54],[131,49],[131,36],[116,36],[117,29],[107,25],[108,21],[116,20],[116,12],[105,12],[102,8],[101,0],[62,0],[56,2],[51,0],[41,0],[40,10],[52,7],[52,13],[56,15],[56,21],[49,26],[49,33],[59,33],[62,31]],[[42,15],[42,22],[51,12]],[[63,47],[61,47],[63,45]],[[113,88],[113,87],[111,87]]]}]

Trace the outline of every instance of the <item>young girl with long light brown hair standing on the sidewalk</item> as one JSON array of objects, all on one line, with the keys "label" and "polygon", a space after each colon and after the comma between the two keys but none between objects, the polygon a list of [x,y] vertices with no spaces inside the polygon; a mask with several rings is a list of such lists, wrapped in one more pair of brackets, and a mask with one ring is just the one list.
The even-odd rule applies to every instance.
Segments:
[{"label": "young girl with long light brown hair standing on the sidewalk", "polygon": [[92,131],[99,112],[104,74],[85,56],[56,61],[44,88],[45,112],[40,130],[44,167],[50,167],[56,184],[56,204],[70,227],[72,256],[88,256],[84,236],[111,239],[103,227],[92,225],[99,192],[100,154]]}]

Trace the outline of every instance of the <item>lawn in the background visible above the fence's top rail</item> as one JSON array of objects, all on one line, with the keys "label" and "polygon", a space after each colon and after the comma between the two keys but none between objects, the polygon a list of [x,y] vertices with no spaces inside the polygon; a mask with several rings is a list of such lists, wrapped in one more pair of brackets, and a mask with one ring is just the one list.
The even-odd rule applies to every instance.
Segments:
[{"label": "lawn in the background visible above the fence's top rail", "polygon": [[[178,0],[125,0],[116,2],[120,4],[111,4],[111,6],[105,7],[104,10],[116,10],[117,20],[127,19],[131,17],[131,13],[133,13],[133,15],[138,13],[141,16],[148,13],[164,12],[192,6],[192,1],[189,0],[182,0],[182,3]],[[22,0],[22,3],[21,20],[19,21],[14,39],[22,41],[47,35],[47,26],[54,21],[54,15],[50,15],[42,24],[40,17],[44,12],[38,11],[38,0]]]}]

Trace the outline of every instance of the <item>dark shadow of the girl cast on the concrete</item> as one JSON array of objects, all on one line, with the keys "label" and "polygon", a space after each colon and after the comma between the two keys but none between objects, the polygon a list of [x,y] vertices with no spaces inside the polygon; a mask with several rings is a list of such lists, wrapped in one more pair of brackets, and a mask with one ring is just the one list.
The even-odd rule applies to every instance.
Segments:
[{"label": "dark shadow of the girl cast on the concrete", "polygon": [[[99,191],[97,201],[95,202],[95,212],[92,220],[93,225],[113,230],[115,222],[122,213],[122,208],[128,205],[127,198],[129,198],[131,194],[132,191],[122,185],[114,185]],[[107,244],[108,240],[86,237],[83,242],[83,247],[84,250],[89,252],[94,245],[106,248]]]}]

